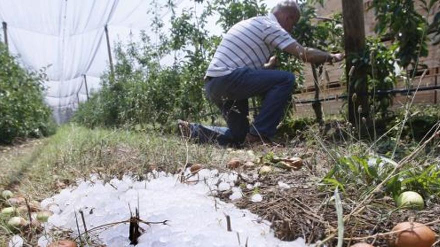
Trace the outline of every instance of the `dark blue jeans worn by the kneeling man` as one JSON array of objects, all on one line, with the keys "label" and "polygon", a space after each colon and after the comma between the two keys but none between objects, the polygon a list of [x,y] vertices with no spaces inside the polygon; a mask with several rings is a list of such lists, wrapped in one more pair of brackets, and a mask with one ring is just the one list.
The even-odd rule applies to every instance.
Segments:
[{"label": "dark blue jeans worn by the kneeling man", "polygon": [[[200,143],[240,145],[247,133],[272,138],[293,90],[295,77],[279,70],[239,68],[232,73],[211,78],[205,85],[207,98],[217,105],[226,127],[190,124],[191,138]],[[248,98],[263,95],[259,114],[249,126]]]}]

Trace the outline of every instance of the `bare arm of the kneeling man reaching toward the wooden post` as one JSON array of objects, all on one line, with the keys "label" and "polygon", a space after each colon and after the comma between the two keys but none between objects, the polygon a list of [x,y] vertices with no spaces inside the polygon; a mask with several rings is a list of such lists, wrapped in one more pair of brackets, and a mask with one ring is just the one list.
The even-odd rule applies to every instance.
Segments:
[{"label": "bare arm of the kneeling man reaching toward the wooden post", "polygon": [[285,52],[300,58],[304,62],[312,64],[322,64],[325,62],[338,62],[343,59],[341,53],[331,54],[322,50],[307,48],[300,45],[298,42],[294,42],[284,48]]}]

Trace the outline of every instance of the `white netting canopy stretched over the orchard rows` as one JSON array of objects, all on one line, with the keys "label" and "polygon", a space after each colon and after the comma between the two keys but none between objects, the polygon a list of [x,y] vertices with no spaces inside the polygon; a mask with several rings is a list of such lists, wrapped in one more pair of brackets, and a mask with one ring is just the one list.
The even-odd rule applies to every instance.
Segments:
[{"label": "white netting canopy stretched over the orchard rows", "polygon": [[[194,6],[193,0],[176,3],[177,13]],[[136,38],[140,30],[151,28],[151,7],[151,0],[0,0],[0,21],[7,23],[9,51],[23,66],[47,67],[46,102],[61,123],[78,101],[86,100],[84,78],[89,93],[99,89],[99,76],[108,65],[104,26],[111,47],[129,33]],[[169,9],[159,11],[166,30]]]}]

